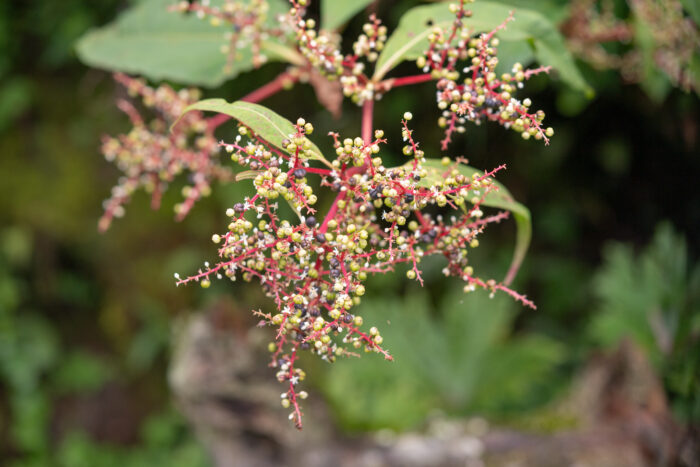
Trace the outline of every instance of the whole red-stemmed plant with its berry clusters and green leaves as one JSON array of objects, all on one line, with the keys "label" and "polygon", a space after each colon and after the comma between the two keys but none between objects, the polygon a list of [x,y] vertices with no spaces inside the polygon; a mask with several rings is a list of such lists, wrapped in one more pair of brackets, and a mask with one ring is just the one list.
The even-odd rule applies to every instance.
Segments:
[{"label": "whole red-stemmed plant with its berry clusters and green leaves", "polygon": [[[274,328],[271,366],[285,385],[282,405],[291,409],[290,419],[299,428],[299,401],[307,396],[299,389],[305,377],[298,365],[302,352],[329,362],[357,356],[358,351],[392,358],[380,330],[365,329],[357,311],[370,276],[406,264],[407,278],[422,284],[421,261],[438,255],[445,259],[443,273],[462,280],[465,292],[500,291],[535,307],[509,288],[527,250],[530,215],[495,181],[505,165],[480,171],[461,157],[428,157],[414,136],[412,114],[405,112],[400,137],[407,161],[387,167],[382,146],[392,136],[373,121],[375,103],[393,88],[433,81],[438,125],[444,129],[443,150],[455,134],[465,131],[467,122],[495,122],[524,139],[549,143],[554,132],[544,126],[544,112],[532,110],[530,99],[516,96],[530,77],[547,73],[550,67],[527,69],[518,62],[504,64],[499,56],[501,46],[512,50],[512,44],[526,38],[538,60],[552,58],[564,80],[581,86],[561,38],[546,19],[527,10],[522,25],[508,35],[519,16],[498,3],[470,3],[416,7],[390,37],[378,17],[370,15],[352,52],[343,54],[340,36],[327,28],[318,30],[316,21],[308,19],[307,0],[290,0],[286,8],[264,0],[180,2],[170,8],[175,12],[161,14],[185,12],[207,19],[213,28],[227,26],[219,52],[225,56],[224,75],[245,67],[246,60],[257,67],[270,58],[287,61],[288,70],[233,103],[197,101],[196,90],[152,88],[143,80],[116,75],[156,117],[147,125],[132,104],[120,101],[134,128],[104,140],[106,158],[118,164],[124,177],[106,202],[100,228],[106,229],[113,217],[123,214],[123,204],[137,188],[151,191],[157,206],[167,184],[182,172],[189,174],[191,184],[183,189],[184,201],[175,207],[178,219],[209,194],[213,181],[252,180],[255,194],[233,202],[226,211],[227,227],[212,236],[219,260],[213,265],[206,262],[196,274],[175,277],[177,285],[195,282],[204,288],[223,278],[260,283],[275,311],[254,314],[261,325]],[[279,14],[270,22],[272,12]],[[539,35],[532,36],[531,30]],[[83,57],[111,69],[128,68],[91,58],[103,59],[93,52],[104,47],[105,40],[109,43],[109,38],[94,34],[79,47]],[[406,59],[415,60],[421,73],[386,78]],[[372,65],[370,75],[366,70]],[[140,66],[134,59],[131,71]],[[172,72],[167,66],[157,73],[151,68],[141,71],[158,77]],[[309,81],[317,90],[330,87],[362,107],[360,135],[328,135],[335,150],[332,158],[311,140],[312,122],[301,117],[290,122],[256,103],[297,81]],[[327,93],[319,92],[319,99],[337,112],[337,102],[322,94]],[[218,115],[206,117],[204,112]],[[230,119],[238,122],[236,136],[217,140],[214,132]],[[219,159],[220,152],[245,170],[234,175],[229,163]],[[319,201],[328,193],[333,193],[333,201],[321,214],[316,206],[324,204]],[[279,209],[282,202],[291,206],[291,218]],[[487,214],[486,208],[499,210]],[[481,278],[469,261],[469,250],[478,247],[486,226],[511,214],[518,226],[511,268],[503,281]]]}]

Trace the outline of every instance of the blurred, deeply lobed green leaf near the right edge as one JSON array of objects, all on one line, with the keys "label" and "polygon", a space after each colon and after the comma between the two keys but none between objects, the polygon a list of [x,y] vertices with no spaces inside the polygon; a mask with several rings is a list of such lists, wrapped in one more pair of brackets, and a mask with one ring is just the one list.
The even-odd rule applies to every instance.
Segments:
[{"label": "blurred, deeply lobed green leaf near the right edge", "polygon": [[641,254],[635,256],[630,245],[613,243],[603,250],[603,260],[593,278],[599,302],[590,324],[594,340],[614,346],[631,337],[657,365],[671,358],[672,349],[688,345],[685,331],[698,305],[683,237],[661,224]]}]

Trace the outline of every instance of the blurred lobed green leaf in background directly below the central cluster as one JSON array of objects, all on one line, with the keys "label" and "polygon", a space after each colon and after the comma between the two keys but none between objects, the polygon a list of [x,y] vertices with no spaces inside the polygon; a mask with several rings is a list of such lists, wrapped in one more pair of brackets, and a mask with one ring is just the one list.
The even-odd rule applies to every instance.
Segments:
[{"label": "blurred lobed green leaf in background directly below the central cluster", "polygon": [[373,298],[362,310],[395,361],[379,356],[336,362],[319,386],[351,429],[412,428],[432,411],[505,416],[536,408],[555,382],[565,347],[544,335],[511,335],[518,306],[451,290],[437,309],[422,291]]}]

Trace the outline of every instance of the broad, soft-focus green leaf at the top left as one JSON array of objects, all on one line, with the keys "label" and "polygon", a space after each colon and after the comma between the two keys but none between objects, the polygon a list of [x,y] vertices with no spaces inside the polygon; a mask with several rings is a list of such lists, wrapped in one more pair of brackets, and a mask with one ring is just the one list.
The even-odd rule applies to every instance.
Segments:
[{"label": "broad, soft-focus green leaf at the top left", "polygon": [[[283,0],[270,1],[268,18],[284,11]],[[212,26],[192,14],[168,11],[173,0],[143,0],[116,21],[89,31],[76,44],[79,58],[87,65],[112,71],[140,74],[155,81],[214,87],[253,68],[250,47],[239,50],[230,73],[226,73],[225,27]],[[216,2],[215,2],[216,3]],[[296,52],[278,43],[263,44],[268,59],[291,60]]]}]

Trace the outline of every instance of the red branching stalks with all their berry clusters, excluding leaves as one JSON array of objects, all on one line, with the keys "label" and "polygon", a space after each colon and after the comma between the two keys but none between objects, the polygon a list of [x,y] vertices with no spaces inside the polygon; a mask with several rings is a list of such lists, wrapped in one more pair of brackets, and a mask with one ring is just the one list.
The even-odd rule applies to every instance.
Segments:
[{"label": "red branching stalks with all their berry clusters, excluding leaves", "polygon": [[[174,95],[167,87],[154,91],[141,82],[123,78],[132,93],[155,105],[160,119],[150,133],[133,106],[121,105],[135,129],[134,135],[105,142],[108,158],[124,158],[119,162],[127,175],[108,202],[105,218],[108,221],[112,215],[119,215],[121,205],[141,185],[153,191],[153,202],[157,203],[166,184],[185,170],[193,184],[186,187],[185,200],[176,209],[181,218],[197,199],[208,194],[211,181],[230,180],[228,167],[221,165],[216,154],[220,148],[234,163],[248,169],[242,178],[253,178],[256,193],[233,204],[226,211],[226,230],[212,236],[219,244],[220,260],[214,266],[205,263],[187,278],[175,277],[177,285],[197,282],[205,288],[214,278],[259,281],[276,312],[254,313],[262,318],[262,324],[275,328],[274,341],[269,345],[271,366],[287,388],[282,405],[291,409],[290,420],[301,428],[299,404],[307,395],[298,390],[305,378],[298,367],[302,352],[329,362],[340,356],[357,356],[352,349],[392,358],[382,347],[379,330],[363,330],[363,319],[356,312],[369,275],[404,267],[406,276],[422,285],[422,259],[438,255],[446,262],[443,273],[462,280],[465,292],[477,288],[492,294],[503,291],[534,308],[527,297],[506,284],[475,275],[467,257],[469,249],[478,247],[478,236],[487,225],[508,217],[507,213],[484,216],[482,212],[485,197],[497,190],[492,178],[505,165],[483,174],[471,175],[470,170],[470,176],[460,170],[461,159],[453,163],[444,158],[442,166],[436,167],[414,140],[413,130],[408,127],[412,115],[407,112],[401,135],[403,153],[409,160],[399,167],[386,167],[379,155],[386,142],[384,132],[374,130],[374,100],[394,86],[436,79],[438,107],[444,111],[441,123],[447,127],[444,147],[454,132],[463,131],[466,121],[495,121],[521,132],[526,139],[532,136],[545,143],[551,129],[542,128],[543,113],[529,113],[529,100],[520,101],[512,95],[523,81],[548,68],[526,71],[516,64],[512,74],[500,77],[492,71],[498,63],[498,41],[493,36],[508,20],[487,34],[474,35],[464,29],[462,19],[470,13],[460,0],[459,5],[450,7],[455,13],[452,24],[431,30],[428,50],[418,59],[423,74],[374,83],[363,70],[365,62],[377,60],[386,40],[386,28],[376,17],[364,25],[363,34],[353,44],[354,53],[342,55],[335,36],[317,32],[315,21],[304,19],[305,6],[298,0],[290,1],[294,8],[287,18],[297,50],[307,61],[300,66],[304,73],[315,68],[322,75],[339,78],[345,95],[362,105],[361,137],[341,139],[332,133],[337,158],[330,162],[309,149],[312,144],[308,135],[313,126],[301,118],[291,134],[282,135],[281,145],[279,141],[266,141],[245,122],[239,125],[235,141],[216,142],[214,130],[229,117],[219,115],[207,120],[200,112],[182,117],[177,128],[166,135],[164,129],[192,103],[194,94]],[[259,56],[263,9],[233,8],[227,13],[207,5],[183,5],[202,16],[250,28],[255,34],[251,47]],[[242,39],[237,30],[231,41]],[[281,74],[241,100],[259,102],[273,95],[297,81],[302,69]],[[140,145],[143,141],[147,143],[145,150]],[[312,166],[319,161],[326,167]],[[309,175],[319,176],[320,184],[310,184]],[[319,185],[337,193],[320,223],[313,207]],[[295,214],[292,219],[281,216],[280,202],[291,206]]]}]

